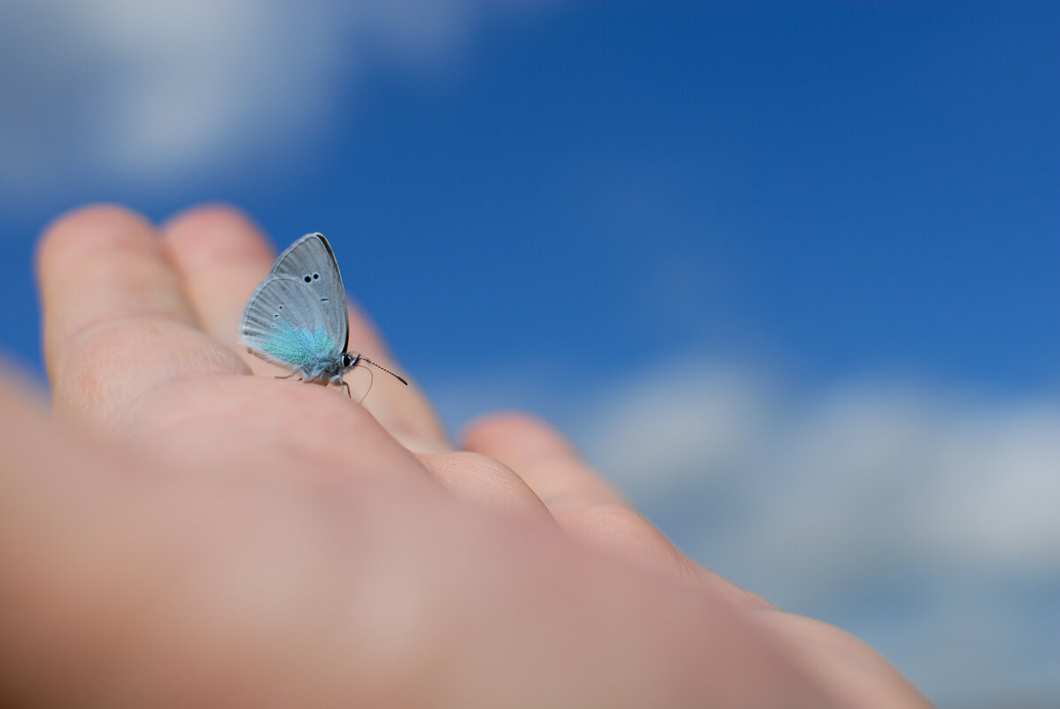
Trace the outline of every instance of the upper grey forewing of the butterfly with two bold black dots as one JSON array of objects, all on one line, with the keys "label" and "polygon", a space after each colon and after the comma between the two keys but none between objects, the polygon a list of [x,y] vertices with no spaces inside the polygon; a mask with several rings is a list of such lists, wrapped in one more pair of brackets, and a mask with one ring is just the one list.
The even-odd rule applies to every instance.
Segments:
[{"label": "upper grey forewing of the butterfly with two bold black dots", "polygon": [[346,352],[350,337],[350,319],[346,309],[346,290],[338,272],[335,252],[323,234],[305,234],[292,244],[276,260],[271,276],[301,281],[316,294],[323,313],[329,316],[328,333],[334,333]]}]

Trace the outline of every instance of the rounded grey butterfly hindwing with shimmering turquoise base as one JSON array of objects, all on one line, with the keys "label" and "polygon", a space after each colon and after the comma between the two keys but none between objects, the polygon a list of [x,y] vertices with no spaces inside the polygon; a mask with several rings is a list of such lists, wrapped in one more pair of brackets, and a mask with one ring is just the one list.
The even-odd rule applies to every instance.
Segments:
[{"label": "rounded grey butterfly hindwing with shimmering turquoise base", "polygon": [[317,289],[300,279],[269,274],[243,311],[243,341],[262,359],[312,376],[346,351],[346,333],[336,330],[335,320],[334,308],[320,301]]}]

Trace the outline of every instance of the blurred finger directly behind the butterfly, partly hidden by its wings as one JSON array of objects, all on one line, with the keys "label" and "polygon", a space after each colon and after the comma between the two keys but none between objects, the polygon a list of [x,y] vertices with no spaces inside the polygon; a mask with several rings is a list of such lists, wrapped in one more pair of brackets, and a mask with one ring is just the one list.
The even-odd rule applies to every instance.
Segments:
[{"label": "blurred finger directly behind the butterfly, partly hidden by its wings", "polygon": [[[247,298],[268,273],[275,259],[261,230],[237,210],[208,206],[175,215],[166,221],[163,234],[173,263],[183,277],[184,287],[207,332],[241,353],[255,373],[288,374],[289,371],[248,354],[240,339],[240,320]],[[396,370],[369,318],[354,305],[350,306],[349,316],[350,349],[387,369]],[[356,389],[359,382],[369,380],[369,375],[363,374],[360,369],[347,375],[353,384],[352,389]],[[370,380],[370,395],[364,404],[393,436],[418,451],[450,449],[444,428],[414,385],[406,388],[382,372],[373,372]]]}]

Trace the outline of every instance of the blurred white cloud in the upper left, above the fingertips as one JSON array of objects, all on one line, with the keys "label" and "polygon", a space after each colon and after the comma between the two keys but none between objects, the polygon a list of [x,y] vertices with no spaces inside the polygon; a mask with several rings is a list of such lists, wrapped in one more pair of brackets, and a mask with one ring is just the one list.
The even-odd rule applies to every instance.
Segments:
[{"label": "blurred white cloud in the upper left, above the fingertips", "polygon": [[542,0],[13,0],[0,197],[202,176],[335,120],[371,57],[424,65]]}]

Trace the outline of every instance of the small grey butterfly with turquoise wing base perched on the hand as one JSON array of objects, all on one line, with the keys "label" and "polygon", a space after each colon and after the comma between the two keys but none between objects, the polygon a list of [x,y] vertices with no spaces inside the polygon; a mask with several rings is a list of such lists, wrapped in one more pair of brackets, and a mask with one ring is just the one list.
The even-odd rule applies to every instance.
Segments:
[{"label": "small grey butterfly with turquoise wing base perched on the hand", "polygon": [[304,382],[350,385],[342,375],[371,365],[408,386],[408,382],[367,357],[349,352],[350,318],[335,252],[323,234],[305,234],[280,254],[243,311],[247,352],[290,368]]}]

